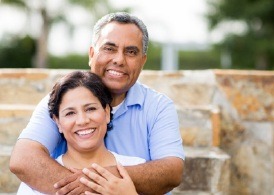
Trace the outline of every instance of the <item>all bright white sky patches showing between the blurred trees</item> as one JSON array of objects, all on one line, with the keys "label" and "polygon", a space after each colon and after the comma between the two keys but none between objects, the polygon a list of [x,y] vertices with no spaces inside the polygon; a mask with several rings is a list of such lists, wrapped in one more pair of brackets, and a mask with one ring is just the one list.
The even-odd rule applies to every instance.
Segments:
[{"label": "all bright white sky patches showing between the blurred trees", "polygon": [[[146,24],[150,39],[157,42],[178,44],[209,44],[218,39],[209,33],[204,18],[206,13],[206,0],[110,0],[118,9],[132,7],[133,14]],[[53,1],[55,2],[55,1]],[[60,2],[60,1],[59,1]],[[56,5],[56,4],[55,4]],[[87,16],[77,10],[71,12],[71,18],[78,25],[71,38],[64,25],[56,25],[49,36],[49,51],[56,55],[67,52],[86,53],[91,42],[91,27],[84,27]],[[8,18],[8,19],[7,19]],[[31,23],[24,15],[10,8],[0,10],[0,38],[4,32],[20,32],[22,29],[31,29],[37,34],[35,24],[37,17]],[[12,21],[12,22],[11,22]],[[81,21],[81,22],[80,22]]]}]

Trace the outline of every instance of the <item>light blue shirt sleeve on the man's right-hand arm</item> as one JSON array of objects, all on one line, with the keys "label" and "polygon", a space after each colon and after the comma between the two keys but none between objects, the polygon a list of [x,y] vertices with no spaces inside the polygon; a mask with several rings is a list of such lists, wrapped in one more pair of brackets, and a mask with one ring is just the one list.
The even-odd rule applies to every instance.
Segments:
[{"label": "light blue shirt sleeve on the man's right-hand arm", "polygon": [[158,97],[155,112],[150,112],[149,149],[151,159],[179,157],[185,159],[179,119],[174,103],[165,95]]}]

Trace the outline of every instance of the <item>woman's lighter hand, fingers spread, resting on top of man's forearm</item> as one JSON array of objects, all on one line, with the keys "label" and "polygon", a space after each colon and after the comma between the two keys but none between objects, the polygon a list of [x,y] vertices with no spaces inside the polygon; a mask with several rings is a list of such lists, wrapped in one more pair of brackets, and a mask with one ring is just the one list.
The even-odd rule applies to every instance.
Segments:
[{"label": "woman's lighter hand, fingers spread, resting on top of man's forearm", "polygon": [[[90,179],[81,178],[80,181],[90,189],[102,195],[137,195],[135,186],[129,177],[126,169],[118,163],[118,172],[121,178],[116,177],[107,169],[92,164],[94,171],[83,169]],[[85,192],[85,194],[93,195],[95,193]]]}]

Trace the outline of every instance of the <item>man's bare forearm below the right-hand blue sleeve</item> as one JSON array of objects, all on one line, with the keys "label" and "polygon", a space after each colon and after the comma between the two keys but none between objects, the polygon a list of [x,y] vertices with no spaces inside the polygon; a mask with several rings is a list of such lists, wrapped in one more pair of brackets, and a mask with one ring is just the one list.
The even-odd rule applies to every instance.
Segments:
[{"label": "man's bare forearm below the right-hand blue sleeve", "polygon": [[125,168],[138,193],[164,194],[181,183],[184,161],[177,157],[166,157]]}]

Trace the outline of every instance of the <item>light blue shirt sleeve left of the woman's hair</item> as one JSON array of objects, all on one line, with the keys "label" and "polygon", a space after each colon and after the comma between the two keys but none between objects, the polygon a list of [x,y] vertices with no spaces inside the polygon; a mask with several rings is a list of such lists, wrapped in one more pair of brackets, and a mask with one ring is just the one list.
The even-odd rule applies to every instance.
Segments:
[{"label": "light blue shirt sleeve left of the woman's hair", "polygon": [[49,95],[39,102],[28,125],[23,129],[18,139],[37,141],[45,146],[51,154],[60,142],[61,135],[55,121],[49,115],[48,101]]}]

